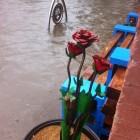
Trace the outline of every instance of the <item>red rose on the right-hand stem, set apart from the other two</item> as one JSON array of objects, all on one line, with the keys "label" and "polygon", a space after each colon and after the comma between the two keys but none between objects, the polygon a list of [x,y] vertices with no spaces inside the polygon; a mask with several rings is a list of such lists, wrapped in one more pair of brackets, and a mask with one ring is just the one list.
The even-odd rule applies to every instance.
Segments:
[{"label": "red rose on the right-hand stem, set apart from the other two", "polygon": [[111,69],[112,65],[107,61],[105,58],[100,57],[98,55],[93,56],[94,63],[95,63],[95,70],[97,73],[101,74],[106,70]]}]

